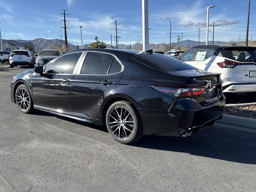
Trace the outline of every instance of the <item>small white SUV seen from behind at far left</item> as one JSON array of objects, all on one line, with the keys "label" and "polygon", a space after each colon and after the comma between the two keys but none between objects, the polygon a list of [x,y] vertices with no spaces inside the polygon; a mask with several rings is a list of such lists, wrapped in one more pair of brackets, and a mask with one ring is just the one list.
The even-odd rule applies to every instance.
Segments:
[{"label": "small white SUV seen from behind at far left", "polygon": [[34,57],[29,50],[14,50],[10,55],[10,66],[14,68],[17,65],[28,65],[34,67]]}]

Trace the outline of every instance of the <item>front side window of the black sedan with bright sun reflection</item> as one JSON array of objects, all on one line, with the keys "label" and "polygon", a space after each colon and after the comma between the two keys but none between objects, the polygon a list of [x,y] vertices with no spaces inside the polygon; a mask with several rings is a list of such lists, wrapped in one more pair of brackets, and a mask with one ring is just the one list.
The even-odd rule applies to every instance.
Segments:
[{"label": "front side window of the black sedan with bright sun reflection", "polygon": [[66,74],[72,74],[74,71],[74,68],[76,66],[76,63],[81,56],[82,52],[80,53],[71,53],[68,55],[64,55],[49,65],[45,67],[45,73],[66,73]]}]

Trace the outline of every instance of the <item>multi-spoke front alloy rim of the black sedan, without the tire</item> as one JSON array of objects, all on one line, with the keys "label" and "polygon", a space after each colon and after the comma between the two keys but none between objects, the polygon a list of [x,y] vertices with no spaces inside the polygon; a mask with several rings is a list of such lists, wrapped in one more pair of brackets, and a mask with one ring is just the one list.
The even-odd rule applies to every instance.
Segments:
[{"label": "multi-spoke front alloy rim of the black sedan, without the tire", "polygon": [[21,87],[17,91],[17,105],[22,111],[26,111],[29,109],[30,106],[30,98],[29,98],[29,93],[27,92],[26,89]]}]

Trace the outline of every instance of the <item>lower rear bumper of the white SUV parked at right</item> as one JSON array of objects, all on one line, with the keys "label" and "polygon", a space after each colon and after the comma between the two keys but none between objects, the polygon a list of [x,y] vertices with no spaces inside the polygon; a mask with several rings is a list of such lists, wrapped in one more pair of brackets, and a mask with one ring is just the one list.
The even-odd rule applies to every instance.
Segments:
[{"label": "lower rear bumper of the white SUV parked at right", "polygon": [[252,83],[234,83],[223,86],[225,93],[247,93],[256,92],[256,82]]}]

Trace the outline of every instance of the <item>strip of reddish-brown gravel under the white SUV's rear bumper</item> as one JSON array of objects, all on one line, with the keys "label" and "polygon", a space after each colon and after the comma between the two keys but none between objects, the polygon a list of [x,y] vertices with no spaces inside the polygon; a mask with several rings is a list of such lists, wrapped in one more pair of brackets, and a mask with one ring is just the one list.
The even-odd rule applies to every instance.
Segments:
[{"label": "strip of reddish-brown gravel under the white SUV's rear bumper", "polygon": [[243,107],[226,107],[224,113],[228,115],[236,115],[256,119],[256,105]]}]

